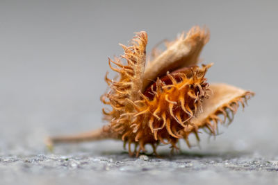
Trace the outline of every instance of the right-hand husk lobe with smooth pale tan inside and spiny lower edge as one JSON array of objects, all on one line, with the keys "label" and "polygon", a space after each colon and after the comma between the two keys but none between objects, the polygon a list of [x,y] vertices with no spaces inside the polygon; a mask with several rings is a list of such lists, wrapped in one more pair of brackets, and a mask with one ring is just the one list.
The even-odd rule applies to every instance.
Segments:
[{"label": "right-hand husk lobe with smooth pale tan inside and spiny lower edge", "polygon": [[[204,127],[211,134],[215,134],[217,123],[225,123],[227,119],[228,123],[231,123],[239,105],[245,107],[247,100],[254,96],[254,92],[227,84],[211,84],[210,89],[210,98],[202,103],[203,111],[197,112],[191,122],[197,127]],[[188,132],[192,131],[193,127],[189,127]]]}]

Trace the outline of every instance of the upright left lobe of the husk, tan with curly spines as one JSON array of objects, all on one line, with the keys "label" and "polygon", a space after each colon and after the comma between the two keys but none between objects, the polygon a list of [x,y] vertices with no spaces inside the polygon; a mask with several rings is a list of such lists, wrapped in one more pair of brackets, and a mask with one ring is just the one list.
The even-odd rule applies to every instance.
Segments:
[{"label": "upright left lobe of the husk, tan with curly spines", "polygon": [[111,129],[119,133],[119,136],[126,127],[129,127],[132,120],[134,108],[130,102],[140,99],[138,91],[142,88],[142,74],[145,70],[147,33],[137,33],[131,44],[131,46],[120,44],[124,49],[121,58],[126,60],[126,64],[123,64],[120,58],[115,58],[115,61],[108,59],[109,66],[119,74],[120,79],[111,80],[106,73],[105,80],[111,89],[101,96],[102,102],[112,107],[110,112],[103,109],[104,119],[110,121]]}]

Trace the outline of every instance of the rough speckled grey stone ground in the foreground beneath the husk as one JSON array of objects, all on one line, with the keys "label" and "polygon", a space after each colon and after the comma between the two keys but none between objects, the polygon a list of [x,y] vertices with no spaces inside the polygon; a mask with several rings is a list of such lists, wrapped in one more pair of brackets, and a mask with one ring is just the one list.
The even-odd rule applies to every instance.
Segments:
[{"label": "rough speckled grey stone ground in the foreground beneath the husk", "polygon": [[134,158],[121,150],[88,152],[90,145],[86,144],[75,147],[83,152],[69,151],[69,146],[58,147],[63,155],[44,152],[0,156],[0,184],[278,183],[278,157],[201,150]]}]

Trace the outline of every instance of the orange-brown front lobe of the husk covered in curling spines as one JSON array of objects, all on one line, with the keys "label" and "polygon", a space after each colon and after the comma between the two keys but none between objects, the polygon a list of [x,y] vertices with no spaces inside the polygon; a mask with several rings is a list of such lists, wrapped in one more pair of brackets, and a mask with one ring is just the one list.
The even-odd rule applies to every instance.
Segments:
[{"label": "orange-brown front lobe of the husk covered in curling spines", "polygon": [[184,137],[188,125],[197,131],[197,126],[190,123],[190,119],[202,107],[202,100],[208,98],[206,91],[209,89],[204,78],[206,68],[190,67],[183,73],[167,73],[166,79],[158,78],[144,93],[152,93],[154,97],[141,94],[142,100],[133,104],[137,112],[131,124],[132,130],[128,130],[122,139],[134,137],[131,142],[141,143],[140,150],[145,150],[142,146],[146,143],[156,141],[170,143],[176,148],[177,139]]}]

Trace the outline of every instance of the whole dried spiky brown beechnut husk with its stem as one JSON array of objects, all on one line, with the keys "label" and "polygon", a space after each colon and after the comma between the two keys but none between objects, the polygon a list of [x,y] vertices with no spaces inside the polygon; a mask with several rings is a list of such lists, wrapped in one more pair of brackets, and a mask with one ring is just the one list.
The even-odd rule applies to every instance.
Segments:
[{"label": "whole dried spiky brown beechnut husk with its stem", "polygon": [[225,84],[209,86],[205,75],[212,64],[196,65],[208,42],[208,30],[196,26],[186,37],[183,35],[168,42],[167,49],[146,69],[147,33],[136,33],[131,46],[121,45],[124,55],[108,59],[118,76],[111,80],[106,74],[110,89],[101,96],[101,101],[111,106],[110,111],[103,109],[108,125],[76,136],[51,137],[47,145],[122,139],[124,146],[128,143],[129,154],[138,156],[139,152],[145,152],[146,144],[152,145],[154,153],[159,143],[178,149],[179,139],[185,139],[190,146],[188,135],[194,133],[199,140],[201,128],[215,134],[218,122],[224,123],[226,118],[231,121],[229,112],[234,116],[239,103],[244,106],[254,93]]}]

